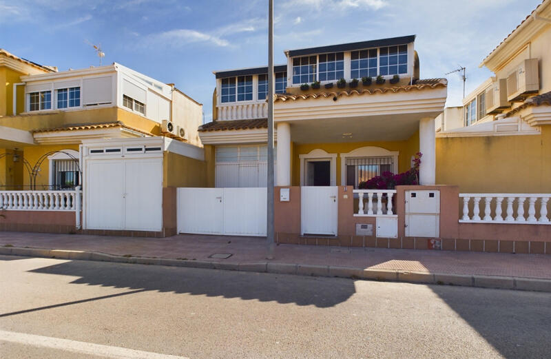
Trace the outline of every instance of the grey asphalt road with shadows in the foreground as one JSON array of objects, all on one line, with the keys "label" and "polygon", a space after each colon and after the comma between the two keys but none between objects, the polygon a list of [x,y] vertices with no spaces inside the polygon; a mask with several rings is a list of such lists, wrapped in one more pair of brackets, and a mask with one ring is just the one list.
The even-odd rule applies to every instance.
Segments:
[{"label": "grey asphalt road with shadows in the foreground", "polygon": [[551,294],[0,256],[0,358],[551,358]]}]

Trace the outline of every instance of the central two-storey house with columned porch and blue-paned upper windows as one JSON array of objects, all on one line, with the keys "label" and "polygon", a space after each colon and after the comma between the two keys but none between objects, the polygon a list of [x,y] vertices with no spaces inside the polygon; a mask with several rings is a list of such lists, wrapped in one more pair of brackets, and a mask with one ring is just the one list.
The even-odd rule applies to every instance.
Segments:
[{"label": "central two-storey house with columned porch and blue-paned upper windows", "polygon": [[[434,119],[447,82],[419,79],[415,35],[285,54],[287,64],[274,68],[276,185],[357,187],[382,172],[408,170],[419,150],[421,181],[435,183]],[[267,68],[214,74],[214,121],[199,129],[214,162],[209,183],[264,187]]]}]

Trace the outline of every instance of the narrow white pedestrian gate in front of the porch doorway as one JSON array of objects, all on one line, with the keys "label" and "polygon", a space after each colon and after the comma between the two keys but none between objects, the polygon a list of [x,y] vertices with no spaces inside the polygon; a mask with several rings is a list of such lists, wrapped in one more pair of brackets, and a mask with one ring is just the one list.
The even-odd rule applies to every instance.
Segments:
[{"label": "narrow white pedestrian gate in front of the porch doorway", "polygon": [[302,234],[337,235],[338,187],[300,187]]}]

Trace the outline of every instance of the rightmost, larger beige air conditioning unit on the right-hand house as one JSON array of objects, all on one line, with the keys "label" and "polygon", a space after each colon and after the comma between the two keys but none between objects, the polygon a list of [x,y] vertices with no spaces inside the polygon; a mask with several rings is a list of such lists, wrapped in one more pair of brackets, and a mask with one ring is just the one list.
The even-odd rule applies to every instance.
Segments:
[{"label": "rightmost, larger beige air conditioning unit on the right-hand house", "polygon": [[528,59],[507,77],[507,100],[523,101],[526,95],[539,90],[538,59]]}]

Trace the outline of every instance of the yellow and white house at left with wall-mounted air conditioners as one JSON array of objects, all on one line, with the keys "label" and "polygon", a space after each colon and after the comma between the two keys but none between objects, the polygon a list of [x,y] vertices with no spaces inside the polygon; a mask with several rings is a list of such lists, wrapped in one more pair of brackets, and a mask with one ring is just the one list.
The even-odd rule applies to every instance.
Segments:
[{"label": "yellow and white house at left with wall-mounted air conditioners", "polygon": [[202,105],[118,63],[58,72],[0,50],[4,77],[0,189],[81,185],[79,145],[87,140],[165,136],[201,147]]}]

